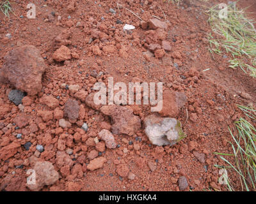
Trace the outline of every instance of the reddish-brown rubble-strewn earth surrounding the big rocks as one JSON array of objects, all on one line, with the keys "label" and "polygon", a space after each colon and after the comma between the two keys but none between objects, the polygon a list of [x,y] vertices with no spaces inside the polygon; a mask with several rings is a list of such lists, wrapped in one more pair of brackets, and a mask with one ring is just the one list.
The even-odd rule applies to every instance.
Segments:
[{"label": "reddish-brown rubble-strewn earth surrounding the big rocks", "polygon": [[[185,1],[180,6],[152,0],[120,1],[144,20],[141,23],[124,8],[119,14],[116,1],[34,1],[36,19],[26,18],[29,1],[15,2],[17,17],[11,15],[8,20],[0,13],[0,67],[14,48],[33,45],[40,50],[46,69],[42,91],[23,98],[23,106],[8,99],[14,87],[1,84],[1,190],[29,191],[26,171],[36,161],[48,161],[60,178],[44,180],[49,186],[42,191],[226,191],[218,184],[219,169],[214,167],[225,163],[214,152],[232,152],[228,126],[234,128],[234,121],[243,116],[236,104],[255,107],[256,83],[240,69],[228,68],[230,56],[216,55],[213,60],[208,52],[211,28],[203,6],[220,1]],[[240,5],[252,5],[250,11],[255,11],[253,0],[241,0]],[[109,8],[116,13],[108,12]],[[147,27],[152,15],[162,22],[165,15],[165,30]],[[124,33],[124,24],[116,20],[136,29]],[[8,33],[12,38],[6,37]],[[148,49],[156,57],[143,55]],[[184,92],[187,101],[176,118],[187,137],[172,147],[157,147],[150,144],[142,122],[136,125],[132,120],[132,126],[122,127],[122,121],[131,120],[130,111],[125,110],[124,117],[126,112],[129,116],[120,119],[117,111],[104,115],[99,106],[92,108],[87,96],[93,84],[107,82],[108,77],[125,83],[163,82],[164,91]],[[138,122],[151,114],[148,105],[126,107]],[[60,124],[60,119],[65,120]],[[121,124],[121,130],[113,135],[118,146],[109,149],[97,135],[102,129],[111,131],[112,120],[118,120],[114,128]],[[81,129],[84,122],[87,133]],[[28,142],[31,147],[26,150]],[[43,145],[44,151],[38,152],[36,145]],[[236,174],[228,176],[236,190],[241,190]]]}]

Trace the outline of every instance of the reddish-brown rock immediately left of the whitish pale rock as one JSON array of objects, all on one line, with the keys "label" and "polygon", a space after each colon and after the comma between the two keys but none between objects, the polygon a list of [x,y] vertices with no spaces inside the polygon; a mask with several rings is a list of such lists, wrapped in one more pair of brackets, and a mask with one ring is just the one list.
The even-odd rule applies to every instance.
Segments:
[{"label": "reddish-brown rock immediately left of the whitish pale rock", "polygon": [[132,136],[141,128],[140,117],[133,115],[130,108],[119,105],[106,105],[102,106],[100,111],[113,119],[111,129],[115,135],[125,134]]}]

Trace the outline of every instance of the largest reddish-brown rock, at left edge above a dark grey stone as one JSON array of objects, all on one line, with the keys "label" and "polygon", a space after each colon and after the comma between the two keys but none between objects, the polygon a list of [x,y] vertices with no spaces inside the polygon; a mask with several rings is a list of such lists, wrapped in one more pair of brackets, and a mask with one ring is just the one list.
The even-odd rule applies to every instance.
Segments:
[{"label": "largest reddish-brown rock, at left edge above a dark grey stone", "polygon": [[35,95],[42,89],[44,59],[33,45],[24,45],[8,52],[0,70],[0,81],[7,81],[16,89]]}]

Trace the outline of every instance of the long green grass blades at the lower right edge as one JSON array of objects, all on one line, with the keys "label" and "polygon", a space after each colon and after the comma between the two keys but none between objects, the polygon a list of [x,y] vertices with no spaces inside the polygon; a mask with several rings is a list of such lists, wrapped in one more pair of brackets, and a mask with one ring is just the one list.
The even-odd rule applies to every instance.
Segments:
[{"label": "long green grass blades at the lower right edge", "polygon": [[[237,105],[247,117],[256,120],[256,110],[246,106]],[[241,181],[243,191],[256,190],[256,128],[244,118],[240,118],[236,125],[236,134],[233,134],[229,129],[230,134],[234,140],[230,142],[234,154],[222,154],[221,159],[228,164],[228,166],[215,165],[218,168],[232,168],[238,175]],[[223,156],[233,156],[234,163],[230,163],[228,159]],[[231,181],[225,178],[227,187],[230,191],[234,191]]]}]

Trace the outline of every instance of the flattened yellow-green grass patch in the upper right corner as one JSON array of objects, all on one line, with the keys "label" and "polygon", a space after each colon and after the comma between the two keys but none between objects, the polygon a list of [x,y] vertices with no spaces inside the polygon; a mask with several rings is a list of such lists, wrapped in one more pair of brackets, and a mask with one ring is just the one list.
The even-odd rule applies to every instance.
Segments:
[{"label": "flattened yellow-green grass patch in the upper right corner", "polygon": [[237,10],[236,4],[228,6],[227,18],[219,18],[218,6],[207,11],[212,31],[220,37],[216,39],[209,34],[211,54],[230,53],[230,68],[241,68],[256,77],[256,29],[253,20],[245,17],[244,10]]}]

